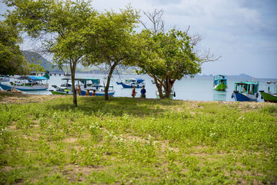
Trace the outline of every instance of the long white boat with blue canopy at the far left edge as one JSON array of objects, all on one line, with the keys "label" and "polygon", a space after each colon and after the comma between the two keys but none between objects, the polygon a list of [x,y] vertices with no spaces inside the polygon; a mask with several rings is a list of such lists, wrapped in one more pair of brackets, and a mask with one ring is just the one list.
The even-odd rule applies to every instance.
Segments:
[{"label": "long white boat with blue canopy at the far left edge", "polygon": [[[46,83],[42,81],[46,80]],[[48,89],[48,79],[43,76],[19,76],[10,77],[8,82],[0,82],[3,90],[12,88],[20,91],[42,91]]]}]

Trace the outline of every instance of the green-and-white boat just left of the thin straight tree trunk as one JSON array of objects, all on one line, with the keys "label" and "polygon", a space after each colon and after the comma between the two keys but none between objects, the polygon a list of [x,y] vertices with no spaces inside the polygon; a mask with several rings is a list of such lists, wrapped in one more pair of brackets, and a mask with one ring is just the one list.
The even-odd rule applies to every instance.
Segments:
[{"label": "green-and-white boat just left of the thin straight tree trunk", "polygon": [[57,85],[52,85],[54,89],[49,89],[48,91],[51,91],[51,94],[60,94],[60,95],[71,95],[73,94],[72,91],[72,84],[69,82],[71,78],[65,77],[62,78],[62,85],[60,87],[57,87]]}]

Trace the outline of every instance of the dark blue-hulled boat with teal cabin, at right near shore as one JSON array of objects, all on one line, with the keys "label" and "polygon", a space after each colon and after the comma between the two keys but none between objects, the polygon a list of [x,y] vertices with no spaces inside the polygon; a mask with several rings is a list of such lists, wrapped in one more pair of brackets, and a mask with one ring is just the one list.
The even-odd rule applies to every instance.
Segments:
[{"label": "dark blue-hulled boat with teal cabin, at right near shore", "polygon": [[258,99],[258,82],[235,82],[231,98],[236,101],[256,101]]}]

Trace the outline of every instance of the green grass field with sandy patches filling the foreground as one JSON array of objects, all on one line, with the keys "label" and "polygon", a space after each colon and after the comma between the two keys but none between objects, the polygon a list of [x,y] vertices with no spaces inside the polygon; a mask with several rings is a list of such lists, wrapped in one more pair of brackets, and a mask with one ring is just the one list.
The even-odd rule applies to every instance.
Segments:
[{"label": "green grass field with sandy patches filling the foreground", "polygon": [[0,184],[277,184],[277,105],[0,93]]}]

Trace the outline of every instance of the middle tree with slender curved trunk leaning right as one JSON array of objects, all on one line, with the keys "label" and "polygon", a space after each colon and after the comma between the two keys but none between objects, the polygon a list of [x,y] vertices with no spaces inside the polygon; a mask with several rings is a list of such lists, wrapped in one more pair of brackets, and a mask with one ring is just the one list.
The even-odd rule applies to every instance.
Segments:
[{"label": "middle tree with slender curved trunk leaning right", "polygon": [[135,61],[136,34],[133,32],[138,14],[127,7],[125,10],[105,12],[93,20],[91,25],[95,30],[96,43],[87,42],[89,57],[87,64],[106,64],[109,67],[107,84],[105,85],[105,99],[108,100],[109,83],[112,73],[118,65],[131,65]]}]

